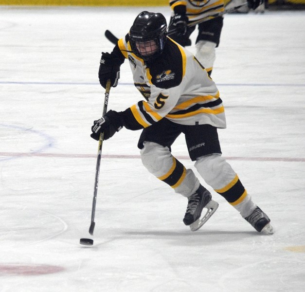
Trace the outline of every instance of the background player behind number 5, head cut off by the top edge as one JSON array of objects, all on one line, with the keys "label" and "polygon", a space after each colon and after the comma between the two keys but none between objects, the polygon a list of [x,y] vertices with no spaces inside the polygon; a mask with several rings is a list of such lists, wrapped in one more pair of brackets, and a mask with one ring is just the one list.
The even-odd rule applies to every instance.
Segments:
[{"label": "background player behind number 5, head cut off by the top edge", "polygon": [[[250,9],[256,9],[262,0],[247,0]],[[192,21],[208,18],[198,24],[196,57],[206,68],[209,75],[215,62],[215,48],[219,45],[223,17],[215,17],[224,11],[224,0],[169,0],[172,9],[169,31],[176,29],[170,37],[182,46],[190,46],[190,36],[196,26],[188,27]]]}]

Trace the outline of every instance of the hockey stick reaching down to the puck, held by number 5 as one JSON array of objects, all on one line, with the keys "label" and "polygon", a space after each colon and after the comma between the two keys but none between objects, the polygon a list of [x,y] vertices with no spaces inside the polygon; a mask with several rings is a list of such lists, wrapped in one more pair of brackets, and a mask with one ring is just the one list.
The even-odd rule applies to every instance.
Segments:
[{"label": "hockey stick reaching down to the puck, held by number 5", "polygon": [[[106,85],[106,91],[105,91],[103,116],[105,116],[105,114],[107,112],[110,87],[111,87],[111,82],[110,82],[110,79],[108,79],[107,85]],[[97,187],[98,187],[98,180],[99,180],[99,174],[100,174],[103,140],[104,140],[104,132],[100,134],[100,139],[98,142],[98,152],[97,152],[97,161],[96,161],[96,169],[95,169],[94,194],[93,194],[92,212],[91,212],[91,224],[90,224],[90,228],[89,228],[89,233],[91,235],[93,235],[94,226],[95,226],[94,216],[95,216],[95,207],[96,207]]]}]

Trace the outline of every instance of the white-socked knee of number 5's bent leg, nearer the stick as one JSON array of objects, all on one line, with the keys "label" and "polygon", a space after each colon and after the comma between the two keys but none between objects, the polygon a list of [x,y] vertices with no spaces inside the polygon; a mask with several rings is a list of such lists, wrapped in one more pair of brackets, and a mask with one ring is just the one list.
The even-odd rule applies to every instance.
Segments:
[{"label": "white-socked knee of number 5's bent leg, nearer the stick", "polygon": [[161,146],[154,142],[144,142],[144,147],[140,151],[143,165],[147,170],[158,176],[167,168],[167,164],[173,163],[173,158],[168,147]]}]

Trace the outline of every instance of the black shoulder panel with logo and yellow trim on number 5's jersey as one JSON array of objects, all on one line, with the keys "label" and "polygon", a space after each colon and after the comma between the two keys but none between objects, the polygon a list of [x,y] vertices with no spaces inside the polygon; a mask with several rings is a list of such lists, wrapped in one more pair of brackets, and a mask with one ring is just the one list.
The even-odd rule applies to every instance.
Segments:
[{"label": "black shoulder panel with logo and yellow trim on number 5's jersey", "polygon": [[148,64],[151,82],[159,88],[178,86],[185,71],[186,57],[183,49],[170,39],[166,40],[161,56]]}]

